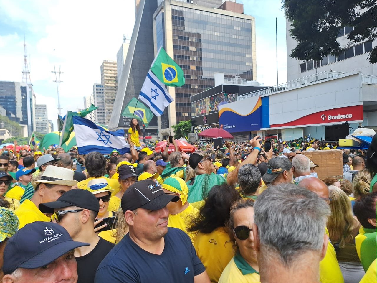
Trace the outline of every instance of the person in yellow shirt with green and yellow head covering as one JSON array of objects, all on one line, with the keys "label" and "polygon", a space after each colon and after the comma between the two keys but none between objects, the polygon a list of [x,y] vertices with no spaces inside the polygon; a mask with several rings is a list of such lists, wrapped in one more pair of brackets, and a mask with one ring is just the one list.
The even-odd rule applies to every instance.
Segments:
[{"label": "person in yellow shirt with green and yellow head covering", "polygon": [[192,243],[194,243],[196,233],[188,232],[187,225],[189,225],[192,218],[198,215],[199,210],[187,201],[187,195],[189,194],[187,184],[182,178],[168,177],[165,179],[161,188],[164,190],[165,194],[179,197],[178,201],[170,201],[166,205],[167,209],[169,209],[169,222],[167,226],[181,229],[189,235]]}]

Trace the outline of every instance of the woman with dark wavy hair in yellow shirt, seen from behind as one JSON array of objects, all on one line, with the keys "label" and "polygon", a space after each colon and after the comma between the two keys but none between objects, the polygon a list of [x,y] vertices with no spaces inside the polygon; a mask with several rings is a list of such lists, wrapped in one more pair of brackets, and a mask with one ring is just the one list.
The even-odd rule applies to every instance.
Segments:
[{"label": "woman with dark wavy hair in yellow shirt, seen from behind", "polygon": [[211,282],[218,282],[222,271],[234,255],[233,245],[225,223],[230,217],[230,206],[241,196],[234,186],[215,185],[205,198],[198,217],[188,231],[198,232],[194,248]]}]

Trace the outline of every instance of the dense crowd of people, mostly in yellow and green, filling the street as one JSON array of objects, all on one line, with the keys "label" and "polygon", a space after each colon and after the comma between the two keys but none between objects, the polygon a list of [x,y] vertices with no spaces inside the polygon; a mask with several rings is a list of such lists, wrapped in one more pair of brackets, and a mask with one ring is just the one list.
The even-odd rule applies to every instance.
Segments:
[{"label": "dense crowd of people, mostly in yellow and green, filling the street", "polygon": [[[319,141],[0,155],[0,278],[11,282],[377,282],[377,135],[319,179]],[[16,164],[17,163],[17,164]]]}]

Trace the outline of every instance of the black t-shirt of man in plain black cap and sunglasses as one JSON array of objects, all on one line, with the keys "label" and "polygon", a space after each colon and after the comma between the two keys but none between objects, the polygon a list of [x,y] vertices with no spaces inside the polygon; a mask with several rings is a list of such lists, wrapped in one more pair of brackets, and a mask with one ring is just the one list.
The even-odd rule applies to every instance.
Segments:
[{"label": "black t-shirt of man in plain black cap and sunglasses", "polygon": [[83,255],[82,257],[76,257],[77,261],[77,283],[93,283],[95,271],[98,265],[104,257],[109,253],[109,251],[115,246],[113,243],[104,240],[99,237],[97,245],[94,249],[89,252],[89,254]]}]

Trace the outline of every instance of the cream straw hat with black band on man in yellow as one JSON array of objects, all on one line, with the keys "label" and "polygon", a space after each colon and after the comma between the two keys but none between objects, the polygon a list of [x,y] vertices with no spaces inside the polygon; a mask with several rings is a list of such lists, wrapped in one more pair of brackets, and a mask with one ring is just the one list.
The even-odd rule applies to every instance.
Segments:
[{"label": "cream straw hat with black band on man in yellow", "polygon": [[74,172],[71,169],[48,166],[40,180],[35,181],[35,183],[74,186],[77,184],[77,181],[73,179],[73,175]]}]

